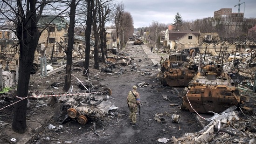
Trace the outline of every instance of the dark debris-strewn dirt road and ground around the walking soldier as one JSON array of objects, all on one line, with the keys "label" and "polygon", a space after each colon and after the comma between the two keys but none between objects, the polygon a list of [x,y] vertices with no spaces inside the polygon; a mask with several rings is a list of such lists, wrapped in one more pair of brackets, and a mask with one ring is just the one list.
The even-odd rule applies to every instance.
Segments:
[{"label": "dark debris-strewn dirt road and ground around the walking soldier", "polygon": [[[145,50],[144,50],[144,49]],[[90,119],[85,125],[75,120],[67,120],[57,123],[53,120],[56,105],[49,104],[49,97],[41,99],[29,99],[27,111],[28,131],[26,134],[16,134],[11,130],[14,106],[9,106],[0,111],[0,122],[6,123],[1,128],[1,144],[160,144],[159,138],[171,139],[172,136],[181,137],[185,133],[193,133],[202,129],[200,123],[195,119],[195,114],[180,110],[182,98],[177,95],[182,88],[163,87],[156,78],[159,72],[160,56],[164,54],[151,53],[146,45],[135,46],[130,42],[124,50],[120,50],[120,57],[132,57],[130,65],[116,65],[112,73],[102,72],[90,67],[89,81],[95,90],[109,88],[112,94],[109,101],[117,110],[111,110],[109,115],[101,119]],[[100,63],[101,68],[105,64]],[[135,67],[134,67],[135,66]],[[136,67],[137,66],[137,67]],[[40,91],[44,95],[62,94],[65,71],[60,71],[47,77],[32,75],[30,79],[30,90]],[[82,76],[82,69],[73,69],[72,84],[74,93],[81,93],[76,77],[85,82],[88,77]],[[75,77],[76,76],[76,77]],[[59,89],[49,88],[53,82],[59,82]],[[126,96],[133,85],[141,82],[147,83],[145,87],[138,87],[137,91],[141,101],[141,116],[137,115],[137,126],[131,126],[128,121],[129,109],[126,104]],[[167,100],[163,98],[167,96]],[[14,102],[12,97],[2,96],[2,105]],[[3,101],[2,101],[3,100]],[[170,104],[178,104],[171,106]],[[155,120],[155,114],[164,118],[163,123]],[[180,115],[180,123],[173,123],[172,116]],[[94,125],[95,122],[95,125]],[[38,124],[39,123],[39,124]],[[48,129],[52,124],[61,129]],[[42,125],[38,130],[33,130],[37,125]],[[10,142],[11,138],[17,142]],[[29,139],[26,141],[26,138]],[[26,143],[22,143],[26,141]],[[172,140],[167,144],[172,144]]]}]

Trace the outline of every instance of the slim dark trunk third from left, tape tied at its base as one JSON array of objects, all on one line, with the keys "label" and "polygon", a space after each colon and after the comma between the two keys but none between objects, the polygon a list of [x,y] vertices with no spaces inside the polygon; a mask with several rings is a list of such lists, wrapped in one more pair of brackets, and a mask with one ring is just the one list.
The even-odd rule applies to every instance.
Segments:
[{"label": "slim dark trunk third from left, tape tied at its base", "polygon": [[84,58],[83,75],[89,75],[92,3],[94,3],[94,0],[87,0],[86,2],[87,2],[87,19],[86,19],[86,30],[85,30],[85,58]]}]

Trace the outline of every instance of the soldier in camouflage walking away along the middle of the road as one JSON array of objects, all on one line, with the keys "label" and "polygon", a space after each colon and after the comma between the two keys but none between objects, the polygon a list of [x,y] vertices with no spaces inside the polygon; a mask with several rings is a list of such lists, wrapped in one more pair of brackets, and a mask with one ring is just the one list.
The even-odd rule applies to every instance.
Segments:
[{"label": "soldier in camouflage walking away along the middle of the road", "polygon": [[127,96],[127,104],[130,109],[129,120],[132,126],[138,125],[136,123],[136,113],[137,113],[137,105],[139,105],[139,94],[137,92],[137,86],[133,86],[132,90],[129,91]]}]

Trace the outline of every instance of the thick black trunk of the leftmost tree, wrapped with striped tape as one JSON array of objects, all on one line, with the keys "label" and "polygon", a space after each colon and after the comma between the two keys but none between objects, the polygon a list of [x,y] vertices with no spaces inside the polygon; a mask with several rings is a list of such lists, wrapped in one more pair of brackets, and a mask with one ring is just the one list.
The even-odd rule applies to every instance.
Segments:
[{"label": "thick black trunk of the leftmost tree, wrapped with striped tape", "polygon": [[[17,37],[20,41],[20,56],[19,56],[19,81],[17,87],[16,96],[27,97],[28,96],[28,84],[30,79],[30,72],[32,70],[32,63],[35,57],[35,49],[38,44],[40,33],[37,29],[36,22],[36,10],[35,0],[29,1],[30,12],[26,21],[17,22]],[[19,7],[22,9],[21,7]],[[16,98],[16,101],[20,100]],[[12,129],[17,133],[25,133],[27,130],[27,102],[24,100],[15,103],[14,105],[14,118],[12,123]]]}]

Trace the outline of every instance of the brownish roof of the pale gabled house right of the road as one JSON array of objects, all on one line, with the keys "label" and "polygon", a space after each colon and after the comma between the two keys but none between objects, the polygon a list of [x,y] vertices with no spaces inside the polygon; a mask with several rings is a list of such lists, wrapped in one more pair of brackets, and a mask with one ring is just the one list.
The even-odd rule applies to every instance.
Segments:
[{"label": "brownish roof of the pale gabled house right of the road", "polygon": [[194,34],[195,36],[199,36],[199,31],[190,31],[190,30],[185,30],[185,31],[171,31],[169,30],[169,40],[171,41],[177,41],[178,39],[184,37],[187,34]]}]

